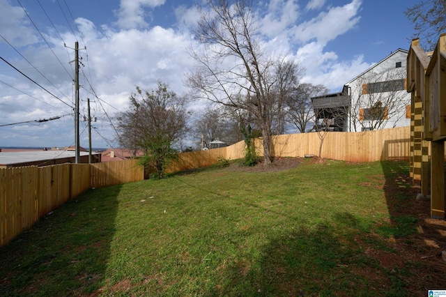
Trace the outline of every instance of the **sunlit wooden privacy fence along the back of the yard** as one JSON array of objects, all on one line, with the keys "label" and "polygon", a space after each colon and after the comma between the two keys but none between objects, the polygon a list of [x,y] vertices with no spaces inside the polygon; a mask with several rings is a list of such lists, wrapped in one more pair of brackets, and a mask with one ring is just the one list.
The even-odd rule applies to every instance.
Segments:
[{"label": "sunlit wooden privacy fence along the back of the yard", "polygon": [[[319,155],[321,139],[316,132],[272,137],[272,155],[281,157],[305,157]],[[263,155],[262,140],[256,139],[256,151]],[[244,156],[244,142],[225,148],[208,151],[181,153],[178,162],[168,172],[178,172],[206,167],[219,158],[235,160]],[[323,139],[321,158],[350,162],[373,162],[384,160],[409,160],[410,127],[401,127],[365,132],[328,132]]]}]

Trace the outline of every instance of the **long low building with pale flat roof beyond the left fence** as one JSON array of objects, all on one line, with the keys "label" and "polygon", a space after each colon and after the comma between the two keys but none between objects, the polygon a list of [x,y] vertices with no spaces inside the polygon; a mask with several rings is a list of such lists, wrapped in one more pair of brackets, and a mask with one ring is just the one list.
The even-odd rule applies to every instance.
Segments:
[{"label": "long low building with pale flat roof beyond the left fence", "polygon": [[[80,162],[89,162],[88,152],[79,152]],[[100,162],[100,153],[92,153],[93,162]],[[74,151],[17,151],[1,152],[0,168],[22,166],[47,166],[63,163],[74,163]]]}]

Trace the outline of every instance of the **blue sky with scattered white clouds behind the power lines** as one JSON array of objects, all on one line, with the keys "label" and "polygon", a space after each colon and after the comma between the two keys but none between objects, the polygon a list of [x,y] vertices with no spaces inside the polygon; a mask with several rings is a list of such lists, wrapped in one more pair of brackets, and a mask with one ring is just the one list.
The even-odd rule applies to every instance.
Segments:
[{"label": "blue sky with scattered white clouds behind the power lines", "polygon": [[[264,0],[254,10],[266,50],[304,67],[302,82],[337,92],[395,50],[408,50],[413,25],[403,12],[417,2]],[[75,144],[76,41],[81,119],[90,98],[93,148],[117,147],[115,117],[135,86],[153,89],[159,80],[187,93],[196,24],[189,0],[0,0],[0,148]],[[204,104],[191,106],[195,116]],[[85,121],[79,130],[88,148]]]}]

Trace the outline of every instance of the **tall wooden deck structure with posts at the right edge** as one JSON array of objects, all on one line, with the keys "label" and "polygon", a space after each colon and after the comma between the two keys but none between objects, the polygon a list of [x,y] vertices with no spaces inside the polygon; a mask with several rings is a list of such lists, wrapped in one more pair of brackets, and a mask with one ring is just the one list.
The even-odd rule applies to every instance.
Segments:
[{"label": "tall wooden deck structure with posts at the right edge", "polygon": [[429,196],[429,144],[431,146],[431,217],[445,218],[446,139],[446,34],[433,52],[425,53],[418,39],[408,53],[407,90],[412,93],[410,123],[410,175]]}]

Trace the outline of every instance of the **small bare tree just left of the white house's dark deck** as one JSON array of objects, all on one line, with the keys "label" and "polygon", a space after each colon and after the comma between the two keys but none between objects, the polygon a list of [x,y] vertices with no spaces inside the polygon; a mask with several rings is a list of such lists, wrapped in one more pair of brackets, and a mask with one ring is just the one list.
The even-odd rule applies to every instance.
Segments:
[{"label": "small bare tree just left of the white house's dark deck", "polygon": [[299,84],[286,102],[288,107],[286,120],[295,125],[300,133],[307,132],[312,128],[309,127],[309,124],[314,121],[314,110],[311,98],[326,93],[328,93],[328,89],[321,84]]}]

